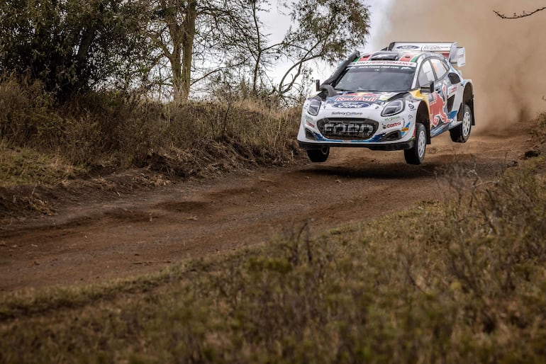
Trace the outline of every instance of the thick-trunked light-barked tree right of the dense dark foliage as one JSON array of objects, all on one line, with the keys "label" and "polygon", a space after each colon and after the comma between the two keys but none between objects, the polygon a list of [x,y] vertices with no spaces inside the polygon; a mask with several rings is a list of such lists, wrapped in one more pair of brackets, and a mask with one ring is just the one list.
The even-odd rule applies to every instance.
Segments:
[{"label": "thick-trunked light-barked tree right of the dense dark foliage", "polygon": [[[169,61],[175,98],[187,98],[190,86],[249,55],[241,50],[255,42],[252,6],[258,0],[159,0],[150,38]],[[240,62],[235,55],[243,55]],[[198,63],[199,67],[194,67]],[[196,75],[192,77],[192,75]]]}]

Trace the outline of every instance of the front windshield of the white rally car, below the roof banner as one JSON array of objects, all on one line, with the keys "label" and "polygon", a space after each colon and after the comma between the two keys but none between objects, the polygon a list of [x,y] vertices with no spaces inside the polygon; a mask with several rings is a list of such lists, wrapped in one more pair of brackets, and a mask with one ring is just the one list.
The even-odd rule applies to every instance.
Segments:
[{"label": "front windshield of the white rally car, below the roof banner", "polygon": [[[340,91],[401,92],[411,89],[415,64],[362,62],[348,68],[334,88]],[[400,62],[401,63],[401,62]]]}]

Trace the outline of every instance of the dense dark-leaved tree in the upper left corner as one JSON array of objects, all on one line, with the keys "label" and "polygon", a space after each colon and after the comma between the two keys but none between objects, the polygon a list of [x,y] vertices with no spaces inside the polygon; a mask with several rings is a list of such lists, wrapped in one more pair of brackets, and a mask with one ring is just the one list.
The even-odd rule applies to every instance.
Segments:
[{"label": "dense dark-leaved tree in the upper left corner", "polygon": [[147,64],[143,4],[4,0],[0,72],[39,79],[61,101],[105,82],[127,84]]}]

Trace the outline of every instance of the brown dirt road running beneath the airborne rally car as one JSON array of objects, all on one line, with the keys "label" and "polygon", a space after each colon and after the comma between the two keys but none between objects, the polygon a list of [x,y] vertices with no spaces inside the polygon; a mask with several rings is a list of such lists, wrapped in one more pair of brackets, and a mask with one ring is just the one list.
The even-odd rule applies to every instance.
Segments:
[{"label": "brown dirt road running beneath the airborne rally car", "polygon": [[55,216],[4,221],[0,292],[137,275],[268,242],[308,219],[320,233],[440,200],[448,190],[437,174],[461,163],[494,178],[532,147],[528,130],[521,124],[496,135],[474,130],[466,144],[441,135],[422,166],[406,165],[402,152],[333,149],[325,164],[121,191],[116,198],[90,196],[57,207]]}]

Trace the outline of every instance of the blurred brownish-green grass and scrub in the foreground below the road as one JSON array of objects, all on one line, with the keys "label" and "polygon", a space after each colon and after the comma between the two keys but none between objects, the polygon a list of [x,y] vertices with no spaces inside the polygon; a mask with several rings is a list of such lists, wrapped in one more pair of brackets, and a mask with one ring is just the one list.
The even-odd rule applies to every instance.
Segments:
[{"label": "blurred brownish-green grass and scrub in the foreground below the road", "polygon": [[6,295],[0,361],[542,363],[544,165],[531,156],[494,181],[455,166],[439,177],[446,202],[321,236],[307,222],[133,280]]}]

